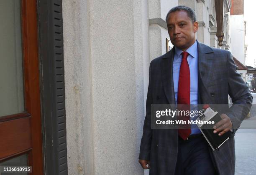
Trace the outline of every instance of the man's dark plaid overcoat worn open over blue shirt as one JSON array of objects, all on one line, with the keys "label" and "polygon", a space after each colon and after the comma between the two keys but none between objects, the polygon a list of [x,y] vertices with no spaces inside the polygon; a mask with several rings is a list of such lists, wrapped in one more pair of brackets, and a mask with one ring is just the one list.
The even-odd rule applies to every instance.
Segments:
[{"label": "man's dark plaid overcoat worn open over blue shirt", "polygon": [[[227,50],[209,47],[197,41],[198,78],[201,104],[248,104],[243,108],[232,106],[226,114],[233,124],[234,133],[248,114],[252,95],[236,71],[232,55]],[[151,130],[151,104],[175,104],[172,76],[174,48],[154,59],[149,68],[146,117],[143,126],[139,159],[150,160],[150,175],[173,175],[178,153],[177,130]],[[241,115],[242,112],[242,115]],[[240,115],[238,115],[238,113]],[[235,172],[234,134],[210,155],[220,175]]]}]

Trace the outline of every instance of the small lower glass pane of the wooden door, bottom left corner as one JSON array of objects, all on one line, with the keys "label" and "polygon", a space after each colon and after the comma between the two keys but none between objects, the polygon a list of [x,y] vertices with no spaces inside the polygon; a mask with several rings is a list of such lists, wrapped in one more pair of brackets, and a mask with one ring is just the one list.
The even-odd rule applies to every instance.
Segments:
[{"label": "small lower glass pane of the wooden door, bottom left corner", "polygon": [[[6,160],[0,163],[0,166],[28,166],[28,154]],[[0,173],[0,175],[28,175],[28,173]]]}]

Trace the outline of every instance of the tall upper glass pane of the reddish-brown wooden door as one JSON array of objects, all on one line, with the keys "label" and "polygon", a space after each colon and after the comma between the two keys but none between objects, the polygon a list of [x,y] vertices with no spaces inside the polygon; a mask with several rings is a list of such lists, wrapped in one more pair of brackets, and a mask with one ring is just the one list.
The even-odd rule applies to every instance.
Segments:
[{"label": "tall upper glass pane of the reddish-brown wooden door", "polygon": [[0,0],[0,116],[24,111],[20,1]]}]

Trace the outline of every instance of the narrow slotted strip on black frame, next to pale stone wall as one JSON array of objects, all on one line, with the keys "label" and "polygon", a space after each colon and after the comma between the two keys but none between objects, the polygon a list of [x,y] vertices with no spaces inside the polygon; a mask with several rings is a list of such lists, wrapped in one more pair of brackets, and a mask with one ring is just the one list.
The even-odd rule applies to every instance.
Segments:
[{"label": "narrow slotted strip on black frame, next to pale stone wall", "polygon": [[56,133],[58,174],[67,174],[67,139],[65,116],[65,91],[64,91],[64,57],[63,57],[63,29],[62,29],[62,2],[53,0],[53,35],[54,35],[54,65],[55,65],[55,97],[56,97]]}]

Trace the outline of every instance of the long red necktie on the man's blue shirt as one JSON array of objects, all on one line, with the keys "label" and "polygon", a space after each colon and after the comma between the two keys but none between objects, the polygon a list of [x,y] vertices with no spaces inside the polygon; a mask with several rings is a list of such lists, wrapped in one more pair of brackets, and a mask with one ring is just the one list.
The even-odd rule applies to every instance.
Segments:
[{"label": "long red necktie on the man's blue shirt", "polygon": [[[190,110],[190,72],[189,65],[187,62],[188,52],[182,52],[182,62],[179,68],[179,85],[178,85],[178,110]],[[182,106],[182,104],[184,104]],[[186,121],[189,120],[189,116],[178,116],[178,120]],[[182,125],[182,128],[178,129],[179,136],[186,140],[191,133],[190,125]]]}]

